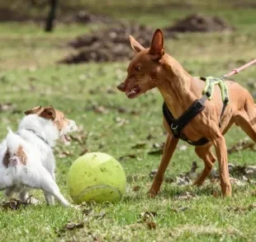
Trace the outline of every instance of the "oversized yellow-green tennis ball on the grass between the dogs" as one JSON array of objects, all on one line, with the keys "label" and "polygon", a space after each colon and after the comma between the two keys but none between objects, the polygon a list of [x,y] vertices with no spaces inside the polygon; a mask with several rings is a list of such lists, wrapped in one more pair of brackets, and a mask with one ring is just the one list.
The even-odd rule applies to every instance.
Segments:
[{"label": "oversized yellow-green tennis ball on the grass between the dogs", "polygon": [[80,156],[70,166],[67,186],[73,202],[116,202],[126,191],[126,175],[112,156],[100,152]]}]

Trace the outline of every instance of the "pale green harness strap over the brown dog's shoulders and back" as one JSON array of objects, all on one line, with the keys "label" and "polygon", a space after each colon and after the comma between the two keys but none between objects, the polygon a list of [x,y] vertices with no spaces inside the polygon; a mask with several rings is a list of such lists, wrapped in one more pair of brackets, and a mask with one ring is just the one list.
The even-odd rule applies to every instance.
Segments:
[{"label": "pale green harness strap over the brown dog's shoulders and back", "polygon": [[[220,86],[221,97],[222,97],[222,101],[223,101],[223,107],[222,107],[221,114],[220,114],[220,121],[221,121],[221,118],[224,114],[225,108],[230,103],[228,87],[225,84],[224,78],[216,78],[216,77],[196,77],[196,78],[199,78],[202,81],[206,81],[206,86],[205,86],[204,90],[202,91],[202,94],[206,95],[208,100],[212,99],[212,95],[214,92],[214,86],[215,85]],[[221,127],[221,123],[219,123],[219,126]]]}]

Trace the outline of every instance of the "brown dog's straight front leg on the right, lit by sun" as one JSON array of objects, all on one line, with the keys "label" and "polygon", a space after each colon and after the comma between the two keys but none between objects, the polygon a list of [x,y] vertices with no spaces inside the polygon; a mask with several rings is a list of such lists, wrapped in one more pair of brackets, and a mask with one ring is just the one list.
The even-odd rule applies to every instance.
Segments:
[{"label": "brown dog's straight front leg on the right, lit by sun", "polygon": [[230,174],[228,167],[228,156],[225,146],[225,138],[223,136],[217,137],[213,141],[216,148],[216,155],[219,163],[220,170],[220,187],[223,197],[231,196],[231,184],[230,184]]}]

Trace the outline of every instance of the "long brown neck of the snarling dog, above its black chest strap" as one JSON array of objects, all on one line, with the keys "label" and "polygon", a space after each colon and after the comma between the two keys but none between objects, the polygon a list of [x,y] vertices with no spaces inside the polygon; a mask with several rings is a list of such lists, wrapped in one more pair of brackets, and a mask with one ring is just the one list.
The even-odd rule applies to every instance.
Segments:
[{"label": "long brown neck of the snarling dog, above its black chest strap", "polygon": [[164,55],[162,65],[164,72],[159,77],[158,88],[168,109],[177,119],[197,99],[198,94],[192,88],[194,79],[168,54]]}]

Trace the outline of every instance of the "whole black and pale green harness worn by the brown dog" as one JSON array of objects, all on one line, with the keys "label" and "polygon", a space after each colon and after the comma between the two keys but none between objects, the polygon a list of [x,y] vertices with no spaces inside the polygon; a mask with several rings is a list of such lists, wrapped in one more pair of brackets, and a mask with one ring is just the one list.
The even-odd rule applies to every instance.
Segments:
[{"label": "whole black and pale green harness worn by the brown dog", "polygon": [[205,102],[206,100],[211,100],[213,92],[214,92],[214,86],[219,85],[222,101],[223,101],[223,107],[220,113],[220,123],[219,126],[221,127],[221,118],[225,112],[226,106],[229,104],[230,99],[228,95],[228,89],[225,85],[225,78],[215,78],[215,77],[196,77],[200,78],[202,81],[206,81],[206,87],[202,91],[203,96],[201,99],[197,99],[193,102],[193,104],[185,111],[184,114],[182,114],[178,119],[173,118],[173,114],[168,109],[168,106],[165,104],[163,105],[163,114],[164,119],[167,121],[169,127],[171,128],[171,131],[173,133],[173,136],[176,138],[180,138],[183,141],[189,143],[192,146],[203,146],[207,142],[209,142],[206,137],[202,137],[200,140],[196,142],[192,142],[187,139],[187,137],[182,133],[183,128],[189,123],[194,117],[197,116],[197,114],[201,113],[203,109],[205,109]]}]

